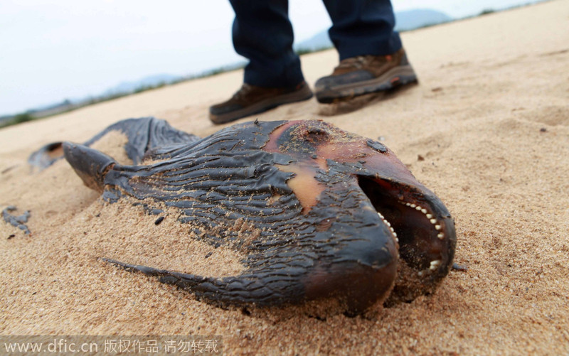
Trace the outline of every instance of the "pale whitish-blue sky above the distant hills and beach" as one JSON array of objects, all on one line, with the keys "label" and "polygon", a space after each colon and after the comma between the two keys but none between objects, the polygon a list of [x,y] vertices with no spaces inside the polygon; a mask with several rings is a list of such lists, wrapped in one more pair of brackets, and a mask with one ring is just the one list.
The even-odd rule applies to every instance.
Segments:
[{"label": "pale whitish-blue sky above the distant hills and beach", "polygon": [[[536,0],[393,0],[460,18]],[[298,41],[331,25],[319,0],[290,0]],[[1,0],[0,116],[100,95],[119,82],[191,75],[240,60],[225,0]],[[236,90],[238,88],[235,88]]]}]

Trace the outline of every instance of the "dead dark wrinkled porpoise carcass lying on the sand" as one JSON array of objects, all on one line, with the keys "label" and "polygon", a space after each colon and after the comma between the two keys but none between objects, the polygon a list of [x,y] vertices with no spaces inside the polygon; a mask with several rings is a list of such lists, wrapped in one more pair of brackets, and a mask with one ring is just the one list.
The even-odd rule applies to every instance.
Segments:
[{"label": "dead dark wrinkled porpoise carcass lying on the sand", "polygon": [[[127,135],[133,166],[89,147],[114,130]],[[249,122],[199,139],[154,118],[128,119],[62,146],[107,202],[174,207],[203,241],[246,256],[242,274],[223,278],[107,259],[208,303],[334,298],[356,315],[432,293],[452,265],[454,223],[440,199],[383,144],[326,122]],[[216,229],[237,221],[248,227]]]}]

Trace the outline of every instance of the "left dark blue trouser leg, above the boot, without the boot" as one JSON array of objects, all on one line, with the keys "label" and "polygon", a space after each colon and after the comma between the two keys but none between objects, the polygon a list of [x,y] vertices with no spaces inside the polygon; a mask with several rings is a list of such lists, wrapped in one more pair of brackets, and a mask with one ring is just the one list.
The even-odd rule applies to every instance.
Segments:
[{"label": "left dark blue trouser leg, above the boot, without the boot", "polygon": [[248,58],[244,82],[257,87],[291,87],[304,80],[292,50],[287,0],[230,0],[235,11],[233,46]]}]

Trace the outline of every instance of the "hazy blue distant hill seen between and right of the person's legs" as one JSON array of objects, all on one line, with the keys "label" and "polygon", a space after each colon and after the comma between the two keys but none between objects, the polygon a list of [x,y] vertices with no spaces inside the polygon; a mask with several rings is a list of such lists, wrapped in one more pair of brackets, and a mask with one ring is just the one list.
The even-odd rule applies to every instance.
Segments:
[{"label": "hazy blue distant hill seen between and right of the person's legs", "polygon": [[[400,11],[395,13],[395,31],[410,31],[437,23],[452,21],[453,18],[447,14],[430,9],[416,9]],[[319,50],[331,48],[333,45],[328,37],[328,30],[321,31],[311,38],[296,43],[295,50]]]}]

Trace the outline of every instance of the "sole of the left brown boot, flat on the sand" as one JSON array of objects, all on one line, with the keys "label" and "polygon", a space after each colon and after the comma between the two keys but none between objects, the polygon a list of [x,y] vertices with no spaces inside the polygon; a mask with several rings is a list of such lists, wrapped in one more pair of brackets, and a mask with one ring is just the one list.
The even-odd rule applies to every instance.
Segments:
[{"label": "sole of the left brown boot, flat on the sand", "polygon": [[308,100],[313,96],[312,90],[308,86],[304,87],[302,90],[297,92],[289,92],[287,94],[279,95],[277,97],[270,97],[264,99],[260,102],[250,105],[249,107],[244,107],[243,109],[235,110],[234,112],[228,112],[227,114],[214,115],[209,114],[209,119],[214,124],[225,124],[227,122],[232,122],[243,117],[248,117],[254,114],[260,114],[261,112],[266,112],[267,110],[279,107],[283,104],[290,104],[292,102],[302,102]]}]

